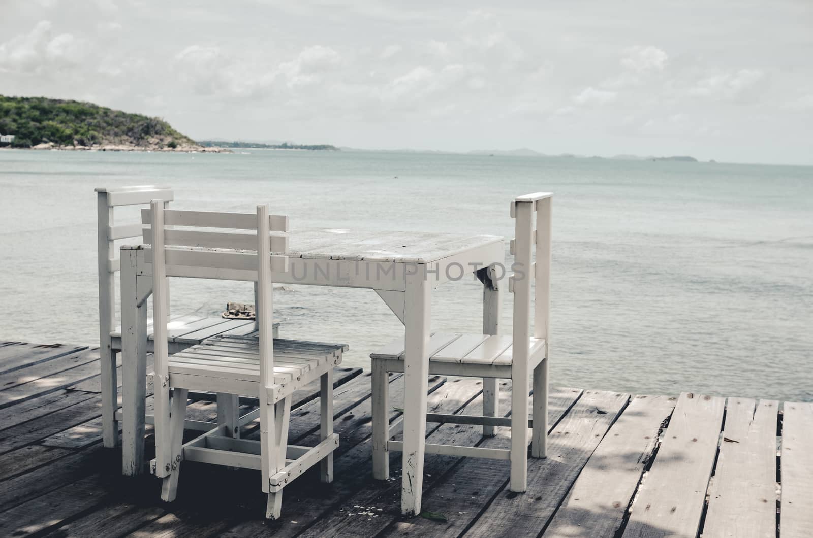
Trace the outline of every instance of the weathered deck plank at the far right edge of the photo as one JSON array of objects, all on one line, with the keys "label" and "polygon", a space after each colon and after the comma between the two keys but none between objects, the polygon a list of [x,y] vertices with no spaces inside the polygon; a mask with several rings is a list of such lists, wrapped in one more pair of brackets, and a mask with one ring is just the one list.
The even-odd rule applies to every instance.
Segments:
[{"label": "weathered deck plank at the far right edge of the photo", "polygon": [[780,536],[813,534],[813,403],[785,402],[782,416]]}]

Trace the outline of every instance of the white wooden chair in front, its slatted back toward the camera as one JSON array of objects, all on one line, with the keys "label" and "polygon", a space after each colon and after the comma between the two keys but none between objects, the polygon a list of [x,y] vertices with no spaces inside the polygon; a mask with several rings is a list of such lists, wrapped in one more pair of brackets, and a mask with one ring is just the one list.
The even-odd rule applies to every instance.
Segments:
[{"label": "white wooden chair in front, its slatted back toward the camera", "polygon": [[[160,200],[152,202],[149,217],[144,242],[152,245],[145,254],[152,261],[155,320],[151,470],[163,478],[161,497],[164,501],[175,498],[180,463],[185,460],[246,467],[261,471],[263,492],[268,494],[266,517],[278,518],[283,488],[311,466],[320,463],[322,481],[333,480],[333,450],[339,445],[339,436],[333,433],[333,367],[341,362],[347,346],[272,338],[272,271],[288,270],[285,217],[269,216],[266,205],[257,206],[256,215],[164,210]],[[167,276],[257,282],[259,339],[216,336],[168,354]],[[291,395],[317,379],[321,382],[320,443],[311,448],[289,446]],[[190,389],[258,397],[260,440],[240,439],[238,427],[224,424],[183,443]]]}]

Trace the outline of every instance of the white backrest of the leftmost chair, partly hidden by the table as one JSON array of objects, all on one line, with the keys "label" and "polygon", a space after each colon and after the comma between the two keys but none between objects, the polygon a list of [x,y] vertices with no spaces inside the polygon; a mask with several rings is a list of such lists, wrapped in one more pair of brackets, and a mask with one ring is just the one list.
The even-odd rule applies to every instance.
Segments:
[{"label": "white backrest of the leftmost chair, partly hidden by the table", "polygon": [[114,241],[141,236],[141,224],[115,224],[114,209],[118,206],[147,205],[160,198],[172,201],[172,189],[155,185],[137,185],[96,191],[98,212],[98,280],[99,280],[99,338],[100,345],[110,346],[110,333],[115,323],[115,272],[120,269],[120,258]]}]

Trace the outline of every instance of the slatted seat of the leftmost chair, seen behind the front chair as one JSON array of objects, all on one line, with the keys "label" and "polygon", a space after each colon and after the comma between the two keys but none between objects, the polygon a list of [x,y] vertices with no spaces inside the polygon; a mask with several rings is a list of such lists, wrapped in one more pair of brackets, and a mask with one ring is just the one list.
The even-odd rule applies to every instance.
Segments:
[{"label": "slatted seat of the leftmost chair, seen behind the front chair", "polygon": [[[200,344],[213,336],[247,336],[255,332],[255,322],[251,319],[227,319],[221,317],[207,317],[204,315],[190,314],[180,315],[171,318],[167,323],[167,335],[169,341],[179,344],[176,347],[187,347],[188,345]],[[274,323],[274,328],[279,328],[280,323]],[[113,349],[121,349],[121,328],[115,328],[110,333],[111,345]],[[147,321],[147,338],[153,339],[153,320]],[[150,347],[151,350],[151,347]],[[176,349],[170,349],[173,353]]]}]

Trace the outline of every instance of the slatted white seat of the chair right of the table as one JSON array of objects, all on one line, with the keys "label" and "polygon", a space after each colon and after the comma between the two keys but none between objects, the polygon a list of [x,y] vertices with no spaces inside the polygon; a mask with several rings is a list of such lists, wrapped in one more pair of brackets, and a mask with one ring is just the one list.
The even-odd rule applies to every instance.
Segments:
[{"label": "slatted white seat of the chair right of the table", "polygon": [[[471,365],[487,370],[510,370],[513,361],[511,336],[487,334],[435,333],[429,338],[429,372],[450,373],[454,365]],[[530,367],[535,367],[545,356],[545,340],[530,339]],[[373,359],[403,361],[403,338],[393,341],[376,353]],[[440,368],[441,370],[438,370]],[[389,370],[389,368],[388,368]],[[454,375],[454,374],[453,374]]]}]

